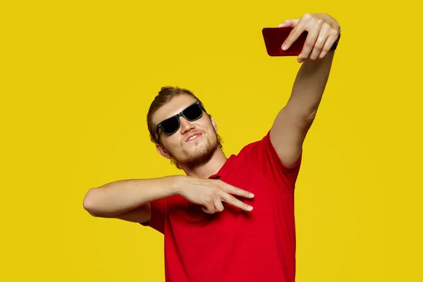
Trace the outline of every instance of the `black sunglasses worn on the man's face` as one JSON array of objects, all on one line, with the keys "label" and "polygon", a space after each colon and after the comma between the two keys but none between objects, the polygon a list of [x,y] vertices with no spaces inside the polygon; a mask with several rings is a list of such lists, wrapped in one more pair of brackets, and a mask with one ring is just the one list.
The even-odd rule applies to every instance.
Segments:
[{"label": "black sunglasses worn on the man's face", "polygon": [[200,101],[197,101],[193,104],[190,104],[185,109],[180,111],[179,114],[166,118],[164,121],[161,121],[156,128],[156,135],[159,138],[159,130],[163,131],[166,135],[172,135],[176,133],[180,128],[179,117],[182,116],[188,121],[197,121],[197,119],[202,117],[202,111],[207,111],[204,109]]}]

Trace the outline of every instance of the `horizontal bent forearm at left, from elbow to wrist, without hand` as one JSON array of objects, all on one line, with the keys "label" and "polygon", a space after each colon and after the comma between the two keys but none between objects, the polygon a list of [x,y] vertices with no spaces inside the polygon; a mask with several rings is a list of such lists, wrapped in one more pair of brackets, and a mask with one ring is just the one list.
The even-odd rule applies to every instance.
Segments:
[{"label": "horizontal bent forearm at left, from elbow to wrist, without hand", "polygon": [[180,178],[183,176],[107,183],[87,192],[84,208],[94,216],[111,217],[123,214],[154,200],[178,195]]}]

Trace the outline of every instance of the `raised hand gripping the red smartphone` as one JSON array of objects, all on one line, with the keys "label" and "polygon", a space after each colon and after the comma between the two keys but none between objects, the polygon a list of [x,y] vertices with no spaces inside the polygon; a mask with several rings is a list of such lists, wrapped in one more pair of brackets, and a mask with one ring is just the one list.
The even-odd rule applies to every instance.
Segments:
[{"label": "raised hand gripping the red smartphone", "polygon": [[324,13],[306,13],[302,18],[285,20],[279,27],[294,27],[288,38],[283,42],[282,49],[286,50],[305,30],[308,32],[304,48],[298,56],[298,62],[307,59],[323,59],[336,42],[341,27],[339,23]]}]

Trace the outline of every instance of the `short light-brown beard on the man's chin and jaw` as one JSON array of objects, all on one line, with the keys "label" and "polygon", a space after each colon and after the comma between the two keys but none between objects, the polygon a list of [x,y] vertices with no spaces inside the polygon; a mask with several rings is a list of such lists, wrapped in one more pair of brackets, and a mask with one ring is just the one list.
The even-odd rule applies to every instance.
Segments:
[{"label": "short light-brown beard on the man's chin and jaw", "polygon": [[[206,136],[203,135],[203,137]],[[216,140],[219,140],[218,135],[215,137]],[[211,142],[209,138],[205,138],[204,145],[198,146],[190,152],[185,151],[187,157],[184,160],[176,160],[175,157],[171,155],[171,163],[175,164],[178,169],[182,169],[182,166],[184,166],[184,168],[189,171],[207,164],[207,162],[212,159],[217,147],[220,146],[220,143],[216,142],[216,140]]]}]

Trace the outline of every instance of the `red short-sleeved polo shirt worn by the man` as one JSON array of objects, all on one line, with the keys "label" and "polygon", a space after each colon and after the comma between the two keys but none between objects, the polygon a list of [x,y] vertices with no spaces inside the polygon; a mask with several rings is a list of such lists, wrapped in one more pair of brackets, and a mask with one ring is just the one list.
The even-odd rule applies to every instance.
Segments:
[{"label": "red short-sleeved polo shirt worn by the man", "polygon": [[231,155],[220,180],[254,193],[244,212],[206,214],[197,204],[174,196],[151,203],[145,226],[164,233],[166,281],[295,281],[294,188],[301,157],[283,166],[269,133]]}]

